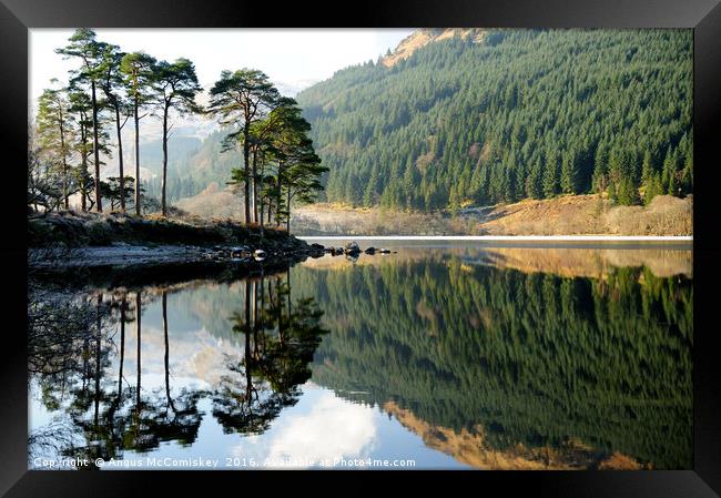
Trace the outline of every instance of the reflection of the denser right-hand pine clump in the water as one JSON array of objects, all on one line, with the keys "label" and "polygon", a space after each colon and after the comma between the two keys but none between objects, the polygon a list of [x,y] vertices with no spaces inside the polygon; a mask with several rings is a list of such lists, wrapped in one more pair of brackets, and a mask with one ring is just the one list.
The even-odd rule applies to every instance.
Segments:
[{"label": "reflection of the denser right-hand pine clump in the water", "polygon": [[226,433],[261,434],[284,407],[295,405],[327,333],[313,298],[293,305],[287,282],[276,277],[267,284],[266,293],[264,281],[246,281],[244,313],[232,316],[233,332],[244,335],[244,354],[226,358],[230,373],[213,396],[213,416]]}]

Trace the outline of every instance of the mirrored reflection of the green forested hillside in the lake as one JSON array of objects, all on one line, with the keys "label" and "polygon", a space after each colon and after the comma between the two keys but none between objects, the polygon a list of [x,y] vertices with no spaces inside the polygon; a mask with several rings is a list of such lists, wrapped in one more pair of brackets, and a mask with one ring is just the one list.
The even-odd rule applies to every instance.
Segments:
[{"label": "mirrored reflection of the green forested hillside in the lake", "polygon": [[526,251],[529,272],[468,247],[311,263],[333,331],[314,380],[475,467],[690,468],[691,280],[565,276]]}]

